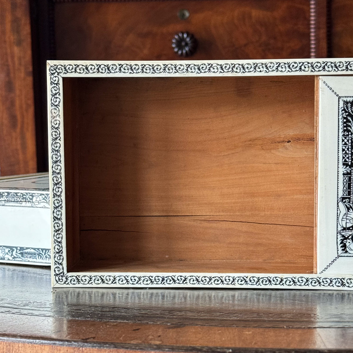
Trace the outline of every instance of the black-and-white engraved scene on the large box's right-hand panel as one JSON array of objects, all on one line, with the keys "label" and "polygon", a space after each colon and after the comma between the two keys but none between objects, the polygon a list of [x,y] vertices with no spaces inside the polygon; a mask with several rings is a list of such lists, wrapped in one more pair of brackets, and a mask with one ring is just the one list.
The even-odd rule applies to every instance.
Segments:
[{"label": "black-and-white engraved scene on the large box's right-hand panel", "polygon": [[352,136],[353,100],[342,100],[339,122],[339,190],[337,199],[337,242],[340,256],[353,255]]}]

